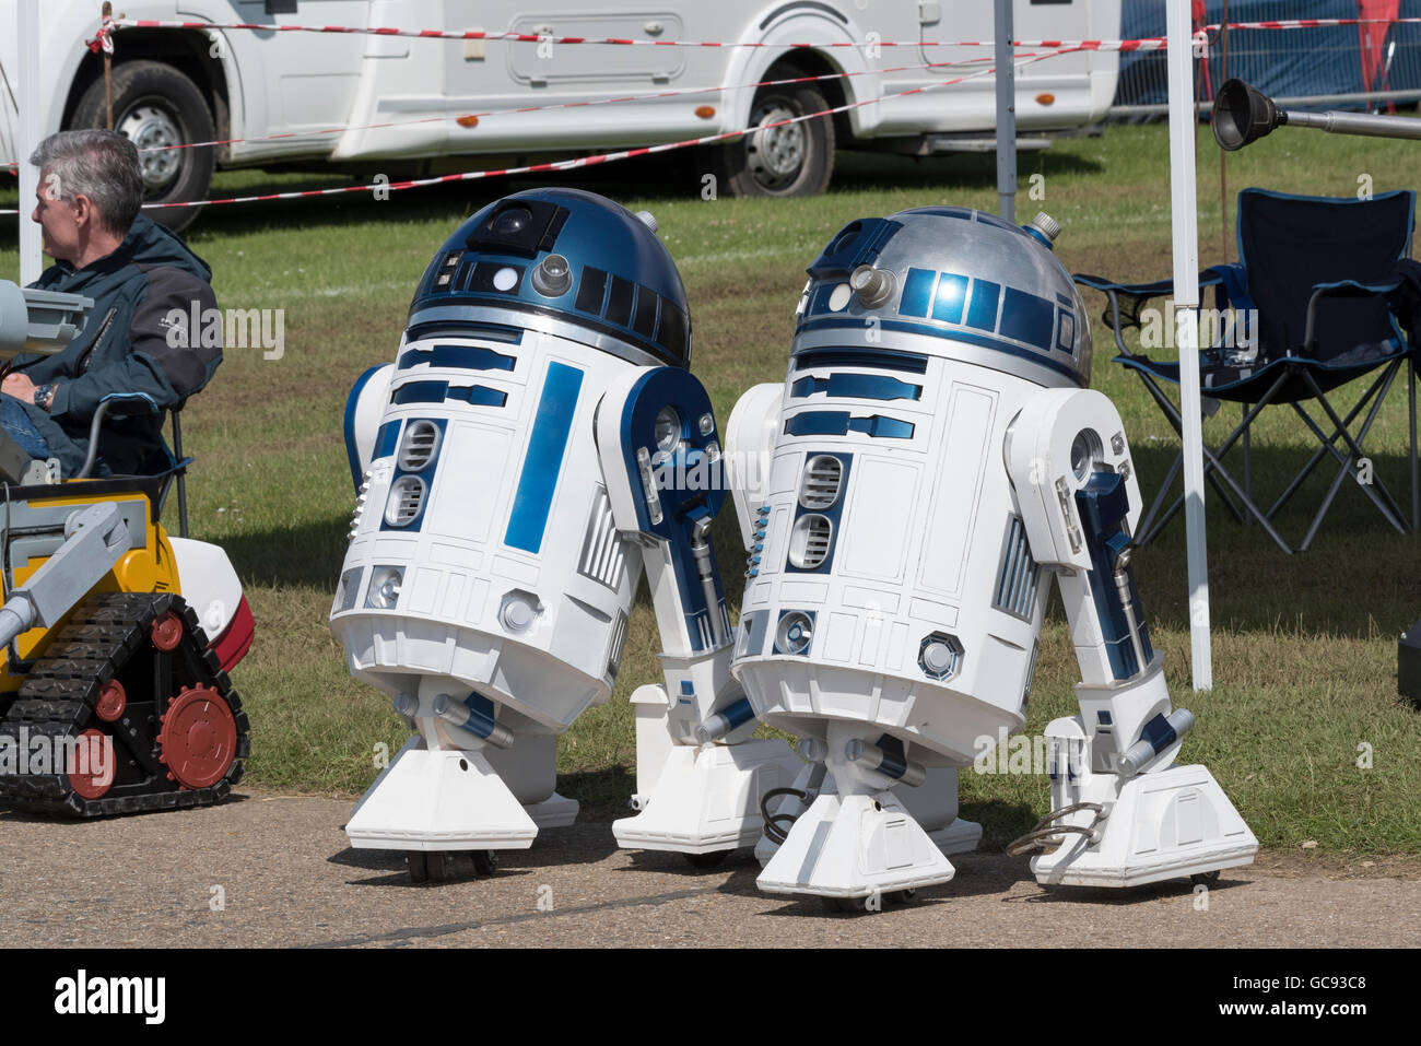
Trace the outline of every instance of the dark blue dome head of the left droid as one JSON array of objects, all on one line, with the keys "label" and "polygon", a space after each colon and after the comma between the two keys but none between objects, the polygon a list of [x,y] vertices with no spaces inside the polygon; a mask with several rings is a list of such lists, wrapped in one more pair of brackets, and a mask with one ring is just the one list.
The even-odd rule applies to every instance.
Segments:
[{"label": "dark blue dome head of the left droid", "polygon": [[686,290],[655,223],[581,189],[513,193],[459,226],[409,313],[448,318],[450,306],[470,320],[547,324],[595,348],[691,365]]}]

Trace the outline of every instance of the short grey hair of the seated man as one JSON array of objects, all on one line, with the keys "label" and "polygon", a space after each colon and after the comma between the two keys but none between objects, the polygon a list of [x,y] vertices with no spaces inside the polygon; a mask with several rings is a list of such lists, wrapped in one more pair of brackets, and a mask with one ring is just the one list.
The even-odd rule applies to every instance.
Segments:
[{"label": "short grey hair of the seated man", "polygon": [[60,131],[30,156],[44,182],[40,192],[63,200],[88,196],[98,220],[115,236],[126,236],[144,203],[138,148],[117,131]]}]

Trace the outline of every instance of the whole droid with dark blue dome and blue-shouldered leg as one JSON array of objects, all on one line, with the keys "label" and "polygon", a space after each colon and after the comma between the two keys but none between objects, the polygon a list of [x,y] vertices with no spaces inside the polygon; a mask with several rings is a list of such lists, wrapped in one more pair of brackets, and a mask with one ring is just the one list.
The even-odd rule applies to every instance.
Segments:
[{"label": "whole droid with dark blue dome and blue-shouldered leg", "polygon": [[[571,823],[556,736],[611,695],[644,566],[676,699],[638,708],[638,740],[661,742],[657,766],[638,756],[638,786],[676,813],[654,772],[723,708],[747,708],[705,540],[723,492],[686,487],[719,458],[689,358],[685,290],[649,215],[522,192],[435,254],[396,361],[347,406],[360,493],[331,631],[418,730],[354,810],[352,846],[405,850],[416,878],[438,878],[449,851],[480,867]],[[654,497],[627,507],[648,478]],[[745,733],[718,735],[702,762]],[[783,742],[722,762],[702,783],[735,794],[693,796],[638,844],[725,848],[757,826],[747,789],[797,770]]]}]

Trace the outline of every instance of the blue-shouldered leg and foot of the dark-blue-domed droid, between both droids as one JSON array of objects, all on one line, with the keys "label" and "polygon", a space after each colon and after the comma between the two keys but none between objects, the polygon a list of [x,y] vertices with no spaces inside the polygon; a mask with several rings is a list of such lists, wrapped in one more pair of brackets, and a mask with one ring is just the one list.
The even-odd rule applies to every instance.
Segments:
[{"label": "blue-shouldered leg and foot of the dark-blue-domed droid, between both droids", "polygon": [[800,760],[783,740],[750,739],[757,722],[730,678],[709,539],[725,500],[710,399],[688,371],[644,368],[608,389],[597,436],[617,529],[642,544],[665,674],[664,686],[632,695],[638,813],[612,833],[624,847],[713,863],[756,841],[760,797],[789,784]]}]

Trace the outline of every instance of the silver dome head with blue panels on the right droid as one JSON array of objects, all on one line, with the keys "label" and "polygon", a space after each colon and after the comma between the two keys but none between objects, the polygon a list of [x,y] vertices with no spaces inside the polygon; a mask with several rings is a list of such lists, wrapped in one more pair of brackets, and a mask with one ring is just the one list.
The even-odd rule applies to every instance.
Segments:
[{"label": "silver dome head with blue panels on the right droid", "polygon": [[[850,222],[809,267],[794,348],[911,348],[1039,385],[1090,385],[1090,323],[1042,215],[1027,227],[969,207]],[[851,338],[848,343],[845,338]]]}]

